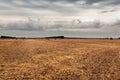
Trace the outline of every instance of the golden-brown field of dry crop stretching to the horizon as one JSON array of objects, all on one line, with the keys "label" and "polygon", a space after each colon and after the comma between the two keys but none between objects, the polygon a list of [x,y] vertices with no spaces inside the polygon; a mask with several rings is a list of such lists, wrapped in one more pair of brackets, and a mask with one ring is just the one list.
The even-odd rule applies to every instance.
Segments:
[{"label": "golden-brown field of dry crop stretching to the horizon", "polygon": [[0,40],[0,80],[120,80],[120,40]]}]

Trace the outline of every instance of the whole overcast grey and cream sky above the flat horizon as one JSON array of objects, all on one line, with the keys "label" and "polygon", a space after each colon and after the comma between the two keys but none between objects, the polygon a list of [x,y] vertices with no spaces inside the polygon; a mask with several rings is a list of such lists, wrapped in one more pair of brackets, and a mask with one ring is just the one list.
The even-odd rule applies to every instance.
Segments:
[{"label": "whole overcast grey and cream sky above the flat horizon", "polygon": [[0,35],[120,37],[120,0],[0,0]]}]

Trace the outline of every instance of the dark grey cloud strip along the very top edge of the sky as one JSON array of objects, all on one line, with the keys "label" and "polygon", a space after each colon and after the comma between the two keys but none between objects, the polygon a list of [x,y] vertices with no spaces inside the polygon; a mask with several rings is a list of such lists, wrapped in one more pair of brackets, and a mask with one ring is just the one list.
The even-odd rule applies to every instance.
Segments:
[{"label": "dark grey cloud strip along the very top edge of the sky", "polygon": [[[2,3],[9,3],[9,4],[12,4],[14,6],[19,6],[19,7],[41,7],[41,8],[49,8],[49,5],[52,5],[52,3],[54,2],[66,2],[66,3],[73,3],[75,4],[76,2],[78,1],[85,1],[86,4],[93,4],[93,3],[99,3],[99,2],[102,2],[102,3],[108,3],[108,4],[120,4],[120,0],[0,0]],[[19,1],[19,2],[17,2]],[[36,2],[36,3],[32,3],[32,2]],[[48,2],[47,5],[45,5],[44,2]],[[43,5],[41,5],[43,4]]]}]

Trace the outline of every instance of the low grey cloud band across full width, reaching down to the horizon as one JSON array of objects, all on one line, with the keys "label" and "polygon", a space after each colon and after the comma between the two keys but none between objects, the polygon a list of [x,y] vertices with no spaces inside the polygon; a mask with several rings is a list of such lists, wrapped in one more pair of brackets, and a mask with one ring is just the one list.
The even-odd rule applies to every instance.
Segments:
[{"label": "low grey cloud band across full width, reaching down to the horizon", "polygon": [[120,20],[112,23],[103,23],[101,21],[81,21],[80,24],[63,25],[51,24],[43,25],[32,21],[18,21],[9,24],[0,23],[0,34],[14,36],[83,36],[83,37],[103,37],[103,36],[118,36],[120,34]]}]

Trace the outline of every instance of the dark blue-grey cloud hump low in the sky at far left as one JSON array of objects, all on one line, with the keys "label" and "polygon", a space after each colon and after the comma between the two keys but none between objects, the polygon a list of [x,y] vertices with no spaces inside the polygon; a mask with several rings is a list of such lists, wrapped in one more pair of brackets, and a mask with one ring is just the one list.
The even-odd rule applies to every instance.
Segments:
[{"label": "dark blue-grey cloud hump low in the sky at far left", "polygon": [[7,23],[0,27],[3,30],[23,30],[23,31],[43,31],[43,27],[34,22],[18,21],[13,23]]}]

